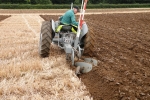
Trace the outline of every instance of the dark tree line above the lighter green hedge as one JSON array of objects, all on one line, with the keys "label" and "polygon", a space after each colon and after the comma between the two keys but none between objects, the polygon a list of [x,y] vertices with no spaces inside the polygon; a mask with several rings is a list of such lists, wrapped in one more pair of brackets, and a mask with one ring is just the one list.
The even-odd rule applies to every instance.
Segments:
[{"label": "dark tree line above the lighter green hedge", "polygon": [[[0,0],[0,4],[81,4],[82,0]],[[91,4],[134,4],[150,3],[150,0],[88,0]]]}]

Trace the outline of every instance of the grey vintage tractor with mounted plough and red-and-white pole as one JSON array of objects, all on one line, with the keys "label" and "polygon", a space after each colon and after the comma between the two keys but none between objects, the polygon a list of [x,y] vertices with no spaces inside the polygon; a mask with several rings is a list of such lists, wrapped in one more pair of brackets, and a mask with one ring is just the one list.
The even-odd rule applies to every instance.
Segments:
[{"label": "grey vintage tractor with mounted plough and red-and-white pole", "polygon": [[[84,6],[86,6],[86,0],[84,2]],[[80,13],[79,23],[82,22],[82,14],[84,13]],[[95,45],[93,32],[88,30],[86,23],[82,24],[81,27],[78,26],[77,34],[71,31],[72,26],[70,25],[64,25],[59,32],[56,32],[59,25],[59,20],[54,21],[51,19],[50,21],[43,21],[39,43],[40,56],[42,58],[48,57],[50,54],[50,46],[54,43],[65,51],[66,60],[71,61],[71,64],[77,67],[76,74],[91,71],[92,65],[97,65],[97,61],[95,59],[84,58],[84,62],[75,62],[75,57],[78,59],[81,59],[83,55],[93,57]]]}]

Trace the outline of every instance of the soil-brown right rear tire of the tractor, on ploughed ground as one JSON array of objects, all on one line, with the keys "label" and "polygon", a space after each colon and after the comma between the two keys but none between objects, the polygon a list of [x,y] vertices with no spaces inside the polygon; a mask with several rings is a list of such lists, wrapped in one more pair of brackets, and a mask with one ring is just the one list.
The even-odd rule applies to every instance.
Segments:
[{"label": "soil-brown right rear tire of the tractor, on ploughed ground", "polygon": [[94,32],[89,30],[84,39],[84,56],[94,56],[94,48],[95,48],[95,37]]}]

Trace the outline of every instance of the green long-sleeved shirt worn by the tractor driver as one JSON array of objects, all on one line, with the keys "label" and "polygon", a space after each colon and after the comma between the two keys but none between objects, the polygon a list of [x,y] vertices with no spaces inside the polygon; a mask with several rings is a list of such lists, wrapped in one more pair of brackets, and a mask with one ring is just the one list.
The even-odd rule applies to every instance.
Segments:
[{"label": "green long-sleeved shirt worn by the tractor driver", "polygon": [[65,12],[65,14],[60,17],[60,22],[63,24],[78,26],[78,22],[76,22],[76,17],[73,10],[68,10]]}]

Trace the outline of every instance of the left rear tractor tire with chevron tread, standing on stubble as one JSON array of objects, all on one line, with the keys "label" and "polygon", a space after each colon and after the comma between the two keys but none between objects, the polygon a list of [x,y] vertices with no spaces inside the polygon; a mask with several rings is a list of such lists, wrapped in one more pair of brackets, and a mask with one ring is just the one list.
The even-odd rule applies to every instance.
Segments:
[{"label": "left rear tractor tire with chevron tread, standing on stubble", "polygon": [[44,21],[41,27],[39,54],[42,58],[48,57],[52,42],[52,26],[50,21]]}]

